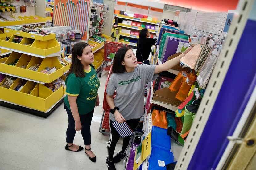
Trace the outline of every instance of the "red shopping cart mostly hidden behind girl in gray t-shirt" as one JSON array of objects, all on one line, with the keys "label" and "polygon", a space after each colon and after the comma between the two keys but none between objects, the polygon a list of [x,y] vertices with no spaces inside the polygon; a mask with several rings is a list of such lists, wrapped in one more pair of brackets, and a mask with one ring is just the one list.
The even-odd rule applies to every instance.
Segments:
[{"label": "red shopping cart mostly hidden behind girl in gray t-shirt", "polygon": [[[138,64],[143,64],[141,62],[138,62]],[[108,86],[108,82],[109,82],[109,78],[112,74],[112,64],[109,65],[109,74],[108,74],[108,77],[107,77],[107,81],[106,81],[106,84],[105,84],[105,89],[104,89],[104,98],[103,98],[103,114],[102,114],[102,117],[101,117],[101,123],[100,123],[100,128],[99,128],[99,132],[102,133],[102,134],[108,134],[109,135],[109,110],[110,110],[110,107],[108,105],[108,102],[106,100],[106,97],[107,97],[107,86]],[[113,95],[113,98],[115,98],[116,96],[116,93],[114,93]],[[106,130],[108,130],[108,132],[106,132]]]}]

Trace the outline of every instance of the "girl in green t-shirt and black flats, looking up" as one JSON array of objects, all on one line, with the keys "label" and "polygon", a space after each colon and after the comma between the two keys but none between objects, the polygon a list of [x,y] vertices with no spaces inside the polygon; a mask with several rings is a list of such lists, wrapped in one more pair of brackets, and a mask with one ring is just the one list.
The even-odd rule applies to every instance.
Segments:
[{"label": "girl in green t-shirt and black flats, looking up", "polygon": [[93,52],[89,44],[79,42],[73,45],[72,63],[66,78],[66,93],[64,108],[68,113],[66,150],[81,151],[84,148],[73,144],[76,131],[82,133],[85,154],[92,162],[96,156],[91,151],[91,121],[94,107],[99,105],[98,89],[100,81],[92,65]]}]

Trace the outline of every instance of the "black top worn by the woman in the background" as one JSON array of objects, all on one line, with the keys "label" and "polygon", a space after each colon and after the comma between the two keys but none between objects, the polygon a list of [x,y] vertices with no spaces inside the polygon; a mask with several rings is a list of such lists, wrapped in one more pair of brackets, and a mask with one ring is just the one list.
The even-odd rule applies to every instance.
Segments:
[{"label": "black top worn by the woman in the background", "polygon": [[[152,45],[155,45],[157,39],[139,38],[137,44],[136,57],[138,62],[146,61],[151,52]],[[141,57],[142,54],[142,57]]]}]

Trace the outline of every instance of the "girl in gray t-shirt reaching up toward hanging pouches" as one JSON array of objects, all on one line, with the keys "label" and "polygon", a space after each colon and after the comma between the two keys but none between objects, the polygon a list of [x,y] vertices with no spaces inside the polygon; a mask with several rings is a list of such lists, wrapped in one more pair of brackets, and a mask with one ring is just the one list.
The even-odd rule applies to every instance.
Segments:
[{"label": "girl in gray t-shirt reaching up toward hanging pouches", "polygon": [[[126,121],[131,130],[134,131],[144,113],[145,85],[156,77],[155,74],[167,71],[179,64],[180,59],[190,49],[192,47],[189,47],[178,57],[160,65],[138,65],[132,49],[128,47],[118,49],[113,61],[113,74],[110,76],[106,90],[106,100],[112,112],[109,113],[110,136],[106,160],[108,170],[116,170],[114,163],[120,162],[126,157],[126,150],[131,137],[127,136],[123,139],[122,151],[113,158],[115,146],[120,137],[112,125],[113,121],[116,120],[119,123]],[[115,91],[116,97],[113,99]]]}]

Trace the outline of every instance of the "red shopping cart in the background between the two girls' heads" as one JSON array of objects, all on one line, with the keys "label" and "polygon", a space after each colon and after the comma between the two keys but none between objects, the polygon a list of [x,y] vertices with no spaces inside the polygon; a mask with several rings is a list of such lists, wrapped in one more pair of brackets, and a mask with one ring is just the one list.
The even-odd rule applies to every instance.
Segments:
[{"label": "red shopping cart in the background between the two girls' heads", "polygon": [[111,42],[111,41],[104,42],[104,61],[101,64],[99,77],[101,77],[102,70],[109,71],[110,65],[108,66],[108,63],[111,62],[112,59],[115,57],[115,53],[117,52],[117,50],[126,46],[127,46],[126,44],[122,44],[119,42]]}]

